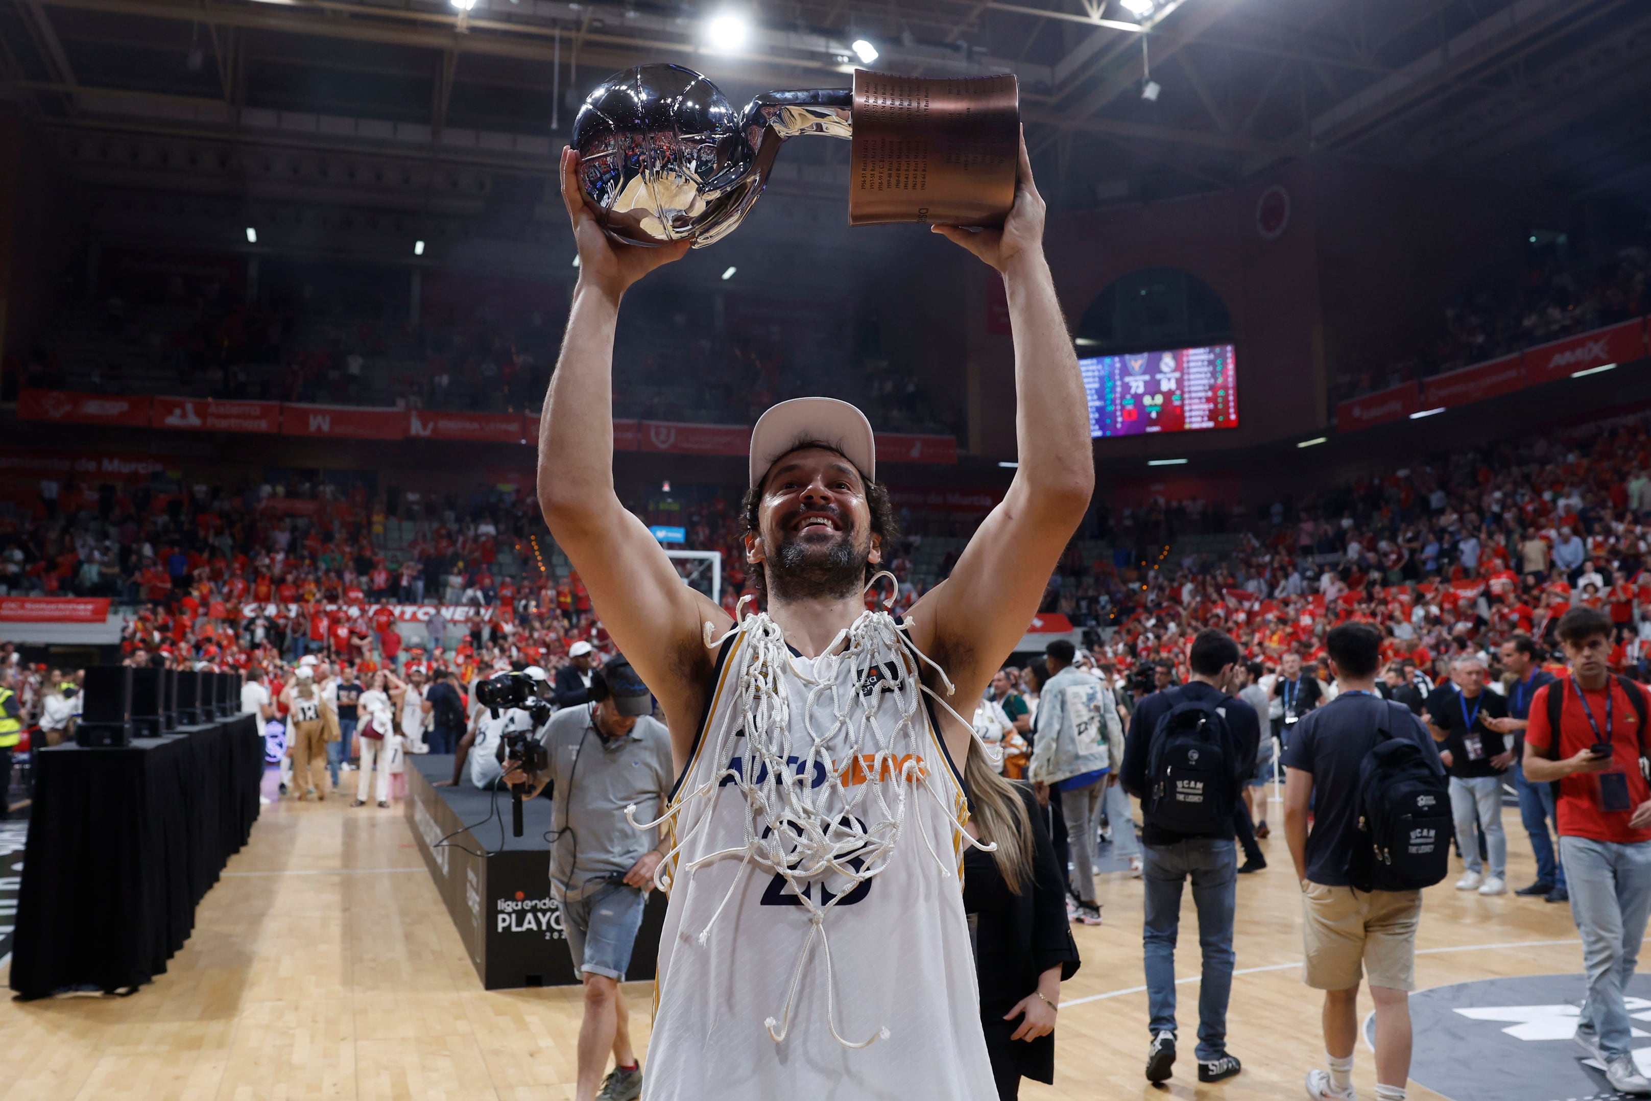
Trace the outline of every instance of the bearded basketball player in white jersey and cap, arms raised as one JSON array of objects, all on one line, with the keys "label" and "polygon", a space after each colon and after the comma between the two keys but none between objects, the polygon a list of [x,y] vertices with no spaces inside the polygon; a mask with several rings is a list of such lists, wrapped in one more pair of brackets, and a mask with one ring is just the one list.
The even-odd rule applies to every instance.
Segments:
[{"label": "bearded basketball player in white jersey and cap, arms raised", "polygon": [[[538,497],[680,769],[647,1101],[996,1098],[959,883],[969,713],[1090,503],[1088,406],[1025,149],[1004,228],[934,228],[1004,279],[1020,465],[951,578],[868,612],[892,535],[872,428],[786,401],[751,432],[745,551],[766,612],[682,583],[613,482],[619,300],[662,248],[611,244],[561,155],[580,279],[540,426]],[[636,815],[639,822],[649,814]]]}]

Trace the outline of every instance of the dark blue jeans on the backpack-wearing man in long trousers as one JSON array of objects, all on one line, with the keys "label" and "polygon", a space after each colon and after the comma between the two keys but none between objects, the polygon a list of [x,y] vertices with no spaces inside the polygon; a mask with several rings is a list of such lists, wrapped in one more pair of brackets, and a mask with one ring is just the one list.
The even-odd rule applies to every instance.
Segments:
[{"label": "dark blue jeans on the backpack-wearing man in long trousers", "polygon": [[1180,888],[1192,877],[1199,910],[1199,1058],[1227,1051],[1227,1000],[1233,985],[1233,910],[1238,901],[1238,850],[1230,840],[1197,837],[1174,845],[1147,845],[1146,881],[1146,997],[1147,1030],[1176,1032],[1176,934],[1180,929]]}]

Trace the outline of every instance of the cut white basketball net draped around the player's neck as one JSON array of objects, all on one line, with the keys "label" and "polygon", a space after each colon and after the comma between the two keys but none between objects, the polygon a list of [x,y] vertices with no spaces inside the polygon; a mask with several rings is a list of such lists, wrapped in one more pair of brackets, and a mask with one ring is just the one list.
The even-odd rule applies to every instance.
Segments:
[{"label": "cut white basketball net draped around the player's neck", "polygon": [[[743,604],[745,599],[735,609],[736,619]],[[954,830],[953,839],[948,840],[956,843],[958,839],[963,839],[982,852],[992,852],[997,847],[969,837],[963,829],[967,814],[959,814],[956,804],[948,804],[934,786],[936,769],[923,768],[913,751],[913,746],[921,744],[923,723],[926,721],[923,693],[939,702],[966,730],[974,731],[974,726],[923,683],[918,660],[939,673],[948,695],[953,692],[946,672],[918,650],[910,636],[905,634],[910,627],[910,619],[895,622],[887,611],[862,612],[850,626],[837,632],[824,652],[814,659],[812,673],[804,673],[791,659],[784,632],[769,619],[768,612],[740,619],[720,639],[713,637],[715,629],[707,622],[705,644],[712,649],[720,647],[733,636],[745,636],[745,654],[736,685],[738,721],[725,723],[718,743],[702,749],[712,753],[712,761],[728,761],[728,766],[712,774],[700,787],[679,794],[654,822],[637,822],[636,806],[626,807],[626,820],[637,829],[654,829],[670,820],[675,830],[675,819],[685,807],[695,801],[707,804],[698,820],[677,839],[677,843],[659,863],[654,872],[655,886],[664,888],[665,877],[670,875],[674,886],[690,890],[692,877],[700,868],[718,860],[740,860],[740,872],[735,873],[710,921],[697,938],[700,947],[707,944],[712,926],[721,918],[728,900],[738,890],[746,865],[755,863],[758,868],[784,878],[791,895],[807,911],[809,931],[797,949],[786,1004],[778,1018],[768,1017],[763,1022],[774,1043],[784,1042],[791,1027],[791,1010],[802,982],[802,969],[816,939],[819,939],[821,956],[826,961],[826,1022],[832,1037],[845,1048],[863,1048],[888,1038],[887,1025],[859,1042],[845,1040],[837,1030],[835,981],[830,941],[826,934],[826,914],[890,865],[901,835],[906,832],[908,799],[911,796],[928,792],[941,806]],[[880,682],[877,692],[862,693],[859,678],[845,682],[839,677],[844,664],[854,670],[893,664],[905,675]],[[811,685],[799,716],[792,716],[786,677],[796,677]],[[896,715],[893,723],[887,718],[882,723],[875,721],[885,695],[893,697]],[[816,705],[822,698],[830,700],[832,720],[824,726],[816,726]],[[794,733],[794,721],[802,725],[801,738],[788,736]],[[736,738],[741,731],[745,736]],[[934,733],[938,738],[939,731]],[[979,738],[977,733],[974,736]],[[1001,759],[994,746],[987,746],[984,741],[981,746],[994,763]],[[832,758],[834,748],[844,754],[844,759]],[[822,782],[816,784],[816,779]],[[745,840],[731,848],[692,852],[690,845],[695,835],[710,824],[723,787],[735,787],[745,801]],[[939,865],[941,873],[944,877],[956,875],[956,870],[936,850],[934,839],[923,825],[923,817],[911,815],[911,820],[916,822],[918,835]],[[700,848],[703,848],[703,842]],[[675,870],[679,867],[687,870],[688,883],[677,880]],[[827,877],[835,890],[830,898],[826,898],[829,891],[824,890]],[[809,890],[811,886],[821,890]]]}]

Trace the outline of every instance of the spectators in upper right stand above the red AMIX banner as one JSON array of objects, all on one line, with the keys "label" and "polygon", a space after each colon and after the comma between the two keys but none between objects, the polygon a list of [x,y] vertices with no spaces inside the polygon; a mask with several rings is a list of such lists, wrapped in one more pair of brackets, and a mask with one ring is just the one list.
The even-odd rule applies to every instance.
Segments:
[{"label": "spectators in upper right stand above the red AMIX banner", "polygon": [[1385,368],[1339,380],[1337,401],[1420,381],[1473,363],[1651,312],[1646,281],[1651,253],[1625,248],[1597,267],[1552,262],[1532,267],[1512,291],[1463,292],[1440,319],[1430,343]]}]

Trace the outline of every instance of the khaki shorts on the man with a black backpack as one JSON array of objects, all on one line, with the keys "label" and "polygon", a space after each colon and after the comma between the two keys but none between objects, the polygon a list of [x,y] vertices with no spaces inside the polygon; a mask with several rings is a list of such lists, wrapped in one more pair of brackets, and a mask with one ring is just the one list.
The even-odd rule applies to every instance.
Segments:
[{"label": "khaki shorts on the man with a black backpack", "polygon": [[1316,990],[1351,990],[1362,974],[1374,987],[1417,989],[1417,919],[1422,891],[1354,891],[1308,883],[1301,891],[1306,979]]}]

